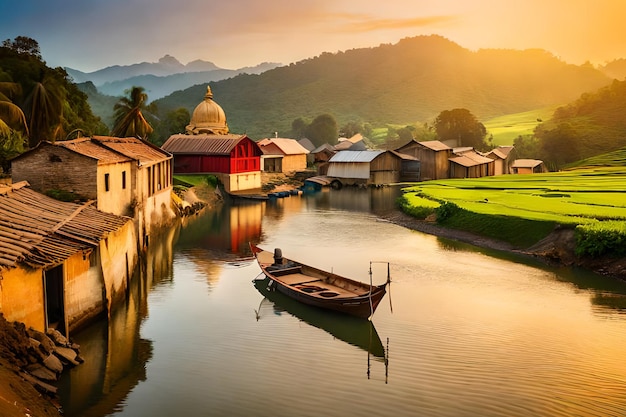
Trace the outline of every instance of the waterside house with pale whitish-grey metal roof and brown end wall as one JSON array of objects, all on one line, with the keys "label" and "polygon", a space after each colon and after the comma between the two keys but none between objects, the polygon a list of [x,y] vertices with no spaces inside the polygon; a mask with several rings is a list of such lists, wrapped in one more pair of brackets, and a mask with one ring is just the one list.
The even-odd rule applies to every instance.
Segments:
[{"label": "waterside house with pale whitish-grey metal roof and brown end wall", "polygon": [[335,187],[383,185],[400,180],[402,158],[392,151],[341,151],[329,161],[328,177]]}]

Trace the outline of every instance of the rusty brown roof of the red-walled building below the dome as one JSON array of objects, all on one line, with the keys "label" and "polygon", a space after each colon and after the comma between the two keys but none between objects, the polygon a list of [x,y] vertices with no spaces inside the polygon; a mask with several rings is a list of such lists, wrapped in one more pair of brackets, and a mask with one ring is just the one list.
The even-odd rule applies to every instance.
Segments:
[{"label": "rusty brown roof of the red-walled building below the dome", "polygon": [[172,135],[161,146],[171,154],[230,155],[246,135]]}]

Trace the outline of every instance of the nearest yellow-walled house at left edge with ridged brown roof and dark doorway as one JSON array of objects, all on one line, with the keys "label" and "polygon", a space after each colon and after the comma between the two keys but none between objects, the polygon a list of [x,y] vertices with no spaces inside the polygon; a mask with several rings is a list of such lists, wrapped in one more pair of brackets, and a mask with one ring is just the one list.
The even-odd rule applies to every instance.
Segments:
[{"label": "nearest yellow-walled house at left edge with ridged brown roof and dark doorway", "polygon": [[0,312],[65,336],[108,313],[138,262],[131,218],[0,185]]}]

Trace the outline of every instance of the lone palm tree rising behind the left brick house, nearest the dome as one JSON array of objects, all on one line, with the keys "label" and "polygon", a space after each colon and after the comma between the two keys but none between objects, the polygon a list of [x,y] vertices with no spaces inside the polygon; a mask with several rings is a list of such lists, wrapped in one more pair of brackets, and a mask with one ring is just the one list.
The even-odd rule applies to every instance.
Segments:
[{"label": "lone palm tree rising behind the left brick house, nearest the dome", "polygon": [[154,131],[150,123],[145,119],[142,111],[146,111],[148,95],[143,87],[133,87],[126,90],[127,97],[122,97],[115,103],[115,126],[111,131],[112,136],[128,137],[138,136],[147,139]]}]

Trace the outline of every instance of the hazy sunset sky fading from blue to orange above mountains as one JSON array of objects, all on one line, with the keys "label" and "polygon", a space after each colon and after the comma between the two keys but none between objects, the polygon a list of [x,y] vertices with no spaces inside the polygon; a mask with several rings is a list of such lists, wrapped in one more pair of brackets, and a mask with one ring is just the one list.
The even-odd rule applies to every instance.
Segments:
[{"label": "hazy sunset sky fading from blue to orange above mountains", "polygon": [[626,57],[625,18],[626,0],[0,0],[0,40],[31,37],[49,66],[85,72],[166,54],[289,64],[430,34],[604,64]]}]

